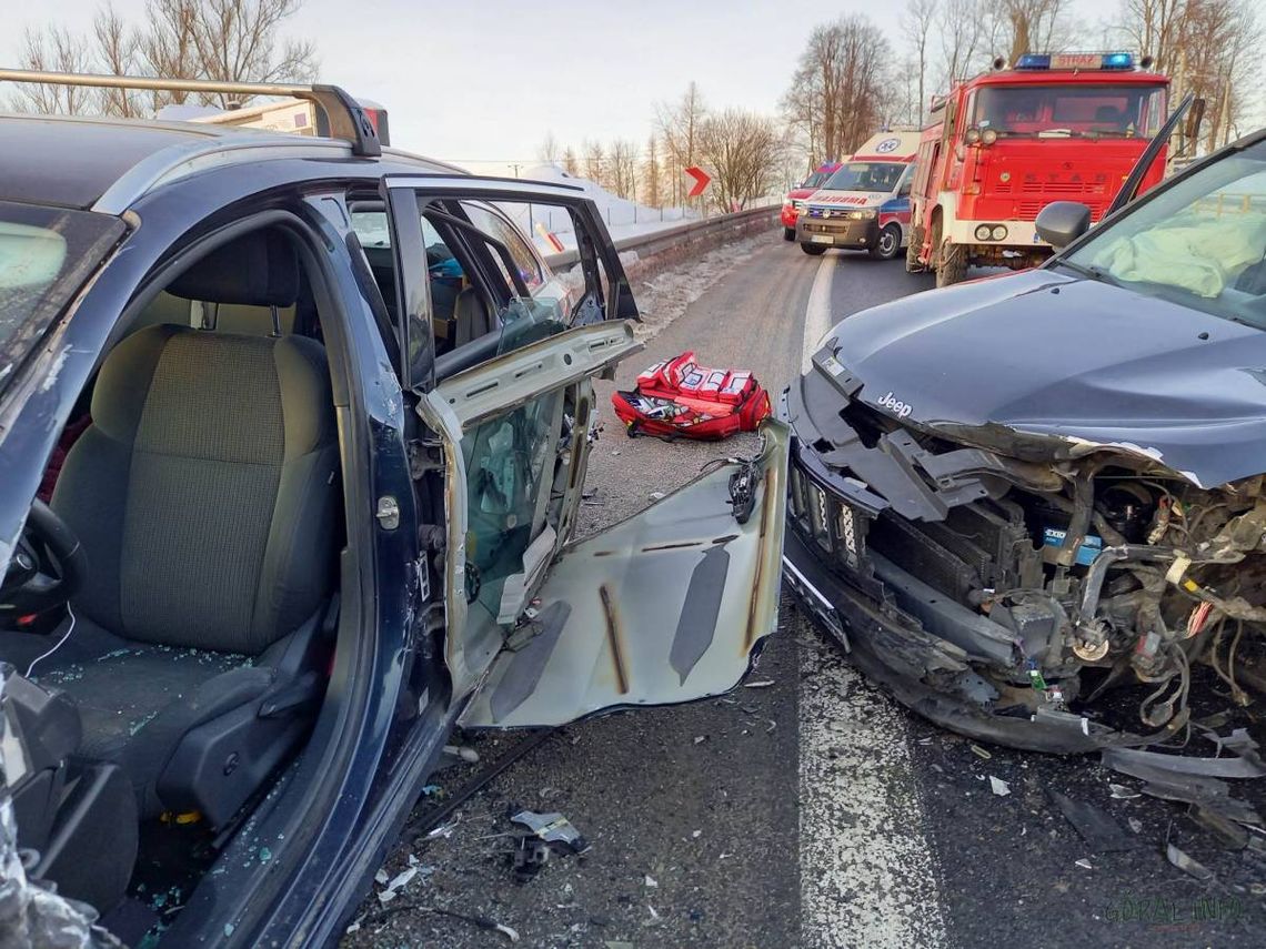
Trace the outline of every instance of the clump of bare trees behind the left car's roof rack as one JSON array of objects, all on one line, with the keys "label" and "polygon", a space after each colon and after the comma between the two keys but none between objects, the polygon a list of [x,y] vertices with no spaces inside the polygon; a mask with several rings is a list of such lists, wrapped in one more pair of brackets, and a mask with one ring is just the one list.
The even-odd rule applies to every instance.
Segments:
[{"label": "clump of bare trees behind the left car's roof rack", "polygon": [[[201,78],[227,82],[305,82],[316,72],[311,43],[281,38],[281,28],[303,0],[149,0],[146,24],[130,27],[108,4],[100,9],[91,39],[49,25],[29,33],[24,68],[62,72],[106,72],[165,78]],[[35,111],[105,113],[138,115],[142,97],[120,90],[100,94],[85,90],[24,86],[18,108]],[[154,92],[152,110],[184,102],[184,92]],[[224,108],[249,96],[199,96]],[[52,108],[46,108],[52,106]]]}]

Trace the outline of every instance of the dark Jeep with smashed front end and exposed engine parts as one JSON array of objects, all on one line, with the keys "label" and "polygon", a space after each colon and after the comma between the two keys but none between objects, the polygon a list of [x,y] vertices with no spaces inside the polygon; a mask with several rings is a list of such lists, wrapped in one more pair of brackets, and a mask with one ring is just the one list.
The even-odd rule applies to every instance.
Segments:
[{"label": "dark Jeep with smashed front end and exposed engine parts", "polygon": [[789,586],[917,711],[1075,752],[1266,685],[1263,152],[849,318],[784,394]]}]

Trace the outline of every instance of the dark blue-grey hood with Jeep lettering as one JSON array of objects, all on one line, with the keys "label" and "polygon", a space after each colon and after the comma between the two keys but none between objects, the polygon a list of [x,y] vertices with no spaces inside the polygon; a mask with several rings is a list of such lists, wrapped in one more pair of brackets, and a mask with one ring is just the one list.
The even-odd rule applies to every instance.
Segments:
[{"label": "dark blue-grey hood with Jeep lettering", "polygon": [[849,316],[789,394],[801,439],[838,425],[841,394],[986,447],[1144,454],[1204,487],[1266,471],[1266,333],[1060,271]]}]

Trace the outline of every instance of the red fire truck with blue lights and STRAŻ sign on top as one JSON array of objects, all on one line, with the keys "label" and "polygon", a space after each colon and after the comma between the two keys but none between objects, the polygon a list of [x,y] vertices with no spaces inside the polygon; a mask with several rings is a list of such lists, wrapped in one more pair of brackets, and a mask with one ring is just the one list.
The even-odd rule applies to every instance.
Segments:
[{"label": "red fire truck with blue lights and STRA\u017b sign on top", "polygon": [[[1169,78],[1129,53],[1025,53],[933,101],[913,187],[905,267],[937,286],[968,264],[1022,270],[1051,254],[1033,220],[1051,201],[1099,220],[1165,123]],[[1141,191],[1165,171],[1162,151]]]}]

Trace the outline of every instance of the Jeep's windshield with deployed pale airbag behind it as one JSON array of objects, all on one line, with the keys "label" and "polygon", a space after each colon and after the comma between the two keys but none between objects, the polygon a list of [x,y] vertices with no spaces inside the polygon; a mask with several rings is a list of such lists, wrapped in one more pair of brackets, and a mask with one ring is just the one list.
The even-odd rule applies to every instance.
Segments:
[{"label": "Jeep's windshield with deployed pale airbag behind it", "polygon": [[1266,326],[1266,144],[1175,182],[1060,261],[1141,294]]}]

